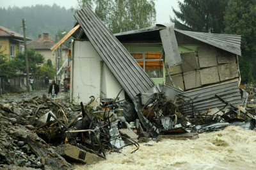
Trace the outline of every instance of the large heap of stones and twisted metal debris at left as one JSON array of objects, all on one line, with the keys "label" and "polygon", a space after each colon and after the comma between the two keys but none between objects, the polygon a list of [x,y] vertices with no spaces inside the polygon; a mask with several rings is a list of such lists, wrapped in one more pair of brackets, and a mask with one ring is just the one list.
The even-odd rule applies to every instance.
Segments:
[{"label": "large heap of stones and twisted metal debris at left", "polygon": [[0,166],[72,169],[68,162],[93,164],[104,160],[106,151],[139,148],[138,135],[119,118],[118,102],[106,99],[94,109],[90,104],[45,95],[1,104]]}]

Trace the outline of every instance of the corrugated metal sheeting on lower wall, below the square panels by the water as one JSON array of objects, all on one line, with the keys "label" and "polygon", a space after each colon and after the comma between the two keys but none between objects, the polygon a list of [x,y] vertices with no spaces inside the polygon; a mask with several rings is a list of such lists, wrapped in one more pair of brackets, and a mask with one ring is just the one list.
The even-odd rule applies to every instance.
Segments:
[{"label": "corrugated metal sheeting on lower wall, below the square panels by the water", "polygon": [[[216,84],[205,88],[195,89],[193,91],[186,91],[177,99],[177,105],[183,107],[182,113],[191,113],[191,108],[184,107],[185,102],[193,102],[193,105],[198,111],[206,111],[209,108],[218,107],[223,109],[224,105],[215,95],[220,96],[227,102],[233,105],[241,104],[241,93],[238,88],[238,82],[227,82],[225,84]],[[228,107],[227,107],[228,108]]]}]

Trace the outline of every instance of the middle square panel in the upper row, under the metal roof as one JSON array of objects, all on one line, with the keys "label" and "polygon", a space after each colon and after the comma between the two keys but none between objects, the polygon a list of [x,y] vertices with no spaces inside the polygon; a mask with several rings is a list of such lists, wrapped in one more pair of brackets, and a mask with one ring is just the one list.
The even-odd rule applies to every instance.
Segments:
[{"label": "middle square panel in the upper row, under the metal roof", "polygon": [[198,60],[200,68],[217,66],[216,49],[214,47],[198,47]]}]

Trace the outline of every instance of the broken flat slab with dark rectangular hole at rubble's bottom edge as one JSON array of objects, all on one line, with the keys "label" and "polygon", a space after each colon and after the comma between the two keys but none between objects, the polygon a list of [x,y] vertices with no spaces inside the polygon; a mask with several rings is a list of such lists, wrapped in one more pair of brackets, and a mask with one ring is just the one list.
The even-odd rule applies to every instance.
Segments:
[{"label": "broken flat slab with dark rectangular hole at rubble's bottom edge", "polygon": [[81,162],[83,164],[95,164],[101,160],[104,160],[104,158],[99,157],[94,153],[81,150],[80,148],[71,144],[61,144],[56,148],[56,151],[67,160]]}]

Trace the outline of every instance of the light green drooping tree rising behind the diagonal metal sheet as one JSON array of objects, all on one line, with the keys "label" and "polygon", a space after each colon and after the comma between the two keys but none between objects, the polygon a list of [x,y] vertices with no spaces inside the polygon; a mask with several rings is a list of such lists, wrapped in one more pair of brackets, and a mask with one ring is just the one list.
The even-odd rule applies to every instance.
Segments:
[{"label": "light green drooping tree rising behind the diagonal metal sheet", "polygon": [[112,31],[119,33],[150,27],[156,22],[154,0],[77,0],[79,8],[88,6]]}]

